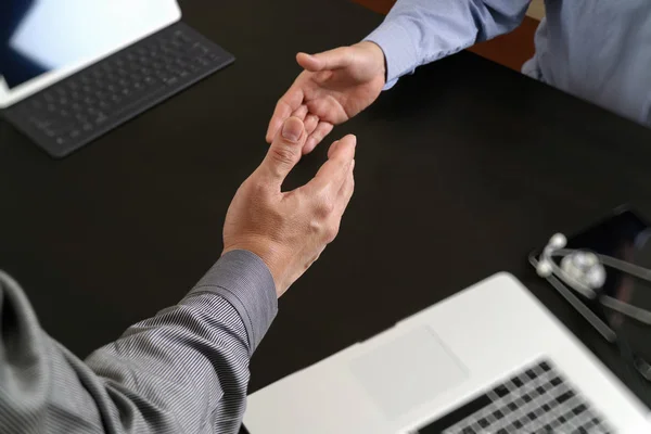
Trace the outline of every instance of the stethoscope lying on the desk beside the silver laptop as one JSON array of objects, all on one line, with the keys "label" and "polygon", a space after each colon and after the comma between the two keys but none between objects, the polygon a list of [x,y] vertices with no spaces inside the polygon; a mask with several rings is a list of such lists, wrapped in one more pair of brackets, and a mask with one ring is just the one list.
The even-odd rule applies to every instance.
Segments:
[{"label": "stethoscope lying on the desk beside the silver laptop", "polygon": [[[566,244],[567,239],[562,233],[557,233],[549,240],[536,265],[538,276],[546,279],[556,277],[584,297],[598,301],[604,307],[643,324],[651,326],[651,311],[598,292],[605,283],[605,267],[620,270],[647,282],[651,282],[651,269],[608,255],[600,255],[585,250],[565,248]],[[554,258],[560,258],[560,267]],[[651,363],[633,354],[629,348],[627,350],[630,353],[638,372],[644,379],[651,381]]]}]

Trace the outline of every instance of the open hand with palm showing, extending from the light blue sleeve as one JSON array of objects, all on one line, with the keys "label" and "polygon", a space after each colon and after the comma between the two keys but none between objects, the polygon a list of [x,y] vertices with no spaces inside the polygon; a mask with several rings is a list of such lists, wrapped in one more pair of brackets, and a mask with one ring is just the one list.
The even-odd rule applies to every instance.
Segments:
[{"label": "open hand with palm showing, extending from the light blue sleeve", "polygon": [[280,99],[269,129],[271,143],[290,116],[305,119],[307,142],[303,153],[311,152],[334,125],[342,124],[371,105],[385,82],[382,49],[373,42],[360,42],[323,53],[298,53],[305,68]]}]

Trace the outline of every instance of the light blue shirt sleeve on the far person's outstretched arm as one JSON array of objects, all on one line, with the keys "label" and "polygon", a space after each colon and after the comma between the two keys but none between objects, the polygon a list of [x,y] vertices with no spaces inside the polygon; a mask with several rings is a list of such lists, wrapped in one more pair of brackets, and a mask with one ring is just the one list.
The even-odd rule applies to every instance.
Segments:
[{"label": "light blue shirt sleeve on the far person's outstretched arm", "polygon": [[531,0],[398,0],[365,40],[386,59],[386,89],[405,74],[518,27]]}]

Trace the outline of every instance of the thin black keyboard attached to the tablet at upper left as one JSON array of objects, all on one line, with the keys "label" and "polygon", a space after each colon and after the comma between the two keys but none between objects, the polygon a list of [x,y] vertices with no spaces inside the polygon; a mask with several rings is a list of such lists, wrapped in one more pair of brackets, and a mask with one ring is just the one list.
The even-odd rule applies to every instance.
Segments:
[{"label": "thin black keyboard attached to the tablet at upper left", "polygon": [[60,157],[233,60],[179,22],[11,106],[5,116]]}]

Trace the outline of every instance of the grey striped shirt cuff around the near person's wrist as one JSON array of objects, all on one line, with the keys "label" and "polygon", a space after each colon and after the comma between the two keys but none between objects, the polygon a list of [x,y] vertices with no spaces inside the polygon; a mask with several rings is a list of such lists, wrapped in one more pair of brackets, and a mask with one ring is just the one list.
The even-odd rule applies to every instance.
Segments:
[{"label": "grey striped shirt cuff around the near person's wrist", "polygon": [[210,268],[189,295],[212,292],[229,302],[246,328],[251,354],[278,312],[276,283],[263,259],[248,251],[232,251]]}]

